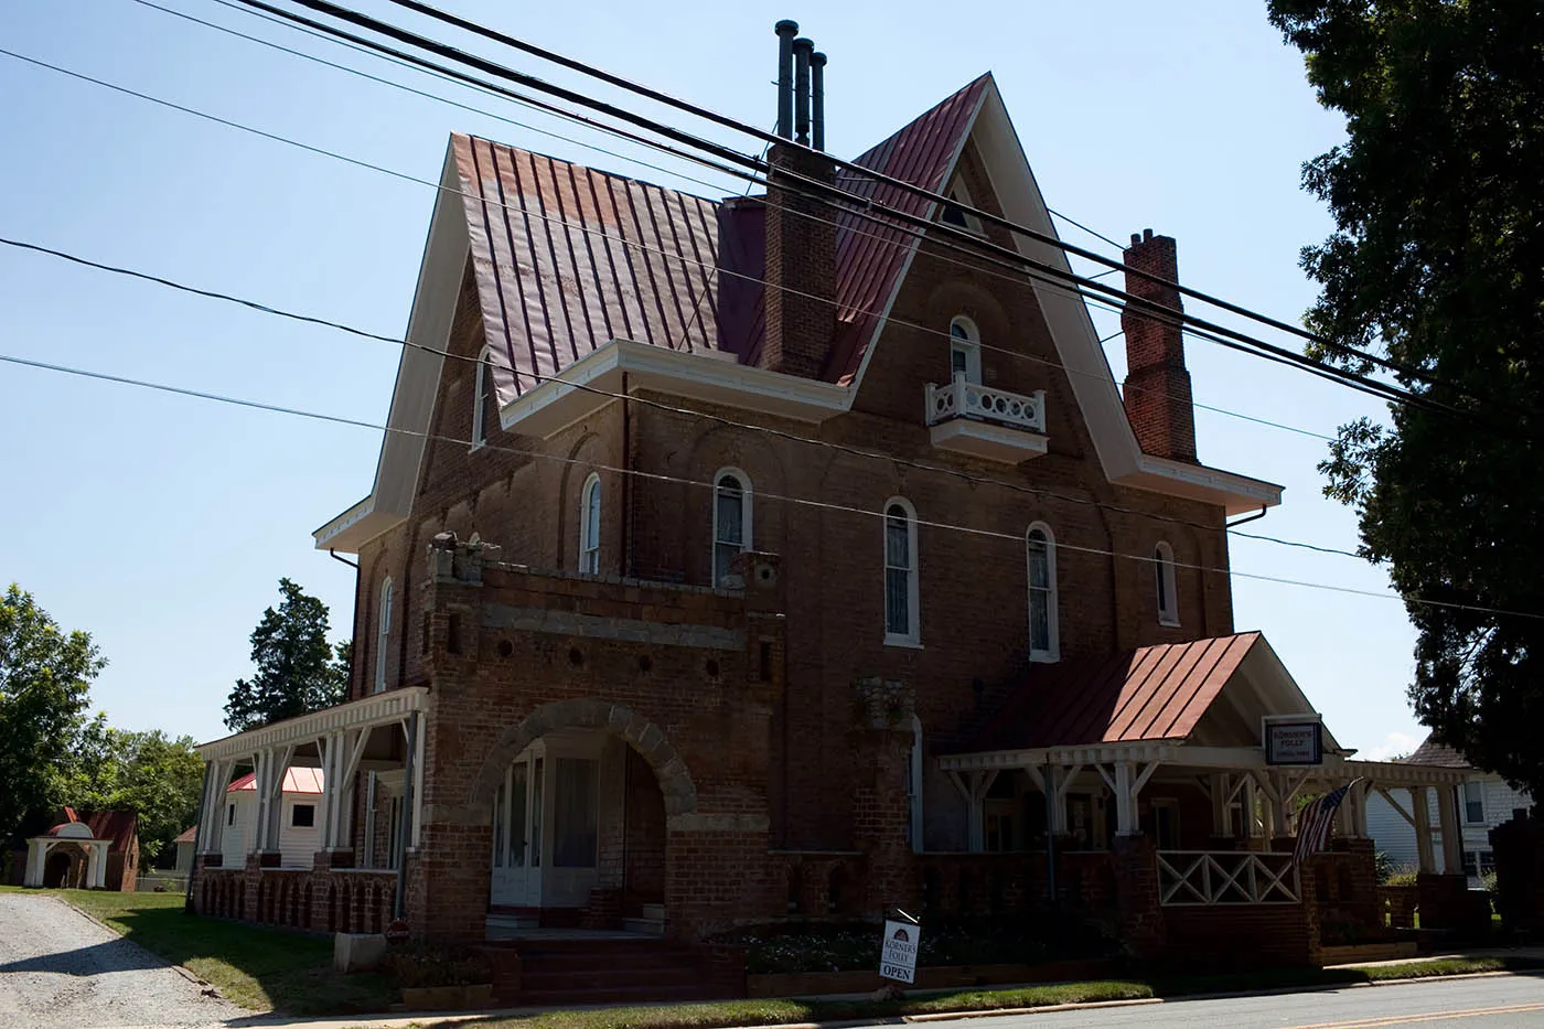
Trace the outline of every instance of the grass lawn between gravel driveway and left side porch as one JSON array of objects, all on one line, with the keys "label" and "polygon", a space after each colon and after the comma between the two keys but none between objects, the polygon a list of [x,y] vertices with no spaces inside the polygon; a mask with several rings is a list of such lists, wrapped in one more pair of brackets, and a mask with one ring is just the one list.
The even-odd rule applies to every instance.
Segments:
[{"label": "grass lawn between gravel driveway and left side porch", "polygon": [[73,904],[250,1010],[360,1014],[384,1010],[395,1000],[395,989],[384,976],[334,972],[329,936],[185,915],[181,893],[51,893]]}]

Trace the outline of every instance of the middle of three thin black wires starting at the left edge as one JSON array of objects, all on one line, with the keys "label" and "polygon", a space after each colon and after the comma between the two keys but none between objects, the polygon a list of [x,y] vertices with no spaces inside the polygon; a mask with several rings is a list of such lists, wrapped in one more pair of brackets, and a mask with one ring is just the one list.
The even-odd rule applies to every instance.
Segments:
[{"label": "middle of three thin black wires starting at the left edge", "polygon": [[[195,295],[199,295],[199,297],[208,297],[212,300],[222,300],[222,301],[227,301],[227,303],[239,304],[242,307],[249,307],[252,311],[258,311],[258,312],[262,312],[262,314],[275,315],[275,317],[279,317],[279,318],[290,318],[290,320],[295,320],[295,321],[303,321],[306,324],[317,324],[317,326],[324,326],[324,328],[329,328],[329,329],[337,329],[340,332],[347,332],[350,335],[357,335],[357,337],[367,338],[367,340],[378,340],[381,343],[391,343],[391,345],[395,345],[395,346],[406,346],[406,348],[425,351],[428,354],[435,354],[438,357],[449,357],[449,358],[460,360],[460,362],[468,362],[468,363],[477,363],[477,360],[479,360],[477,357],[466,357],[463,354],[452,354],[448,349],[440,349],[440,348],[435,348],[435,346],[428,346],[425,343],[415,343],[415,341],[408,340],[408,338],[395,338],[395,337],[389,337],[389,335],[381,335],[378,332],[371,332],[367,329],[360,329],[360,328],[341,323],[341,321],[329,321],[326,318],[318,318],[318,317],[313,317],[313,315],[295,314],[295,312],[284,311],[281,307],[273,307],[270,304],[258,303],[258,301],[253,301],[253,300],[245,300],[245,298],[241,298],[241,297],[233,297],[233,295],[229,295],[229,294],[221,294],[221,292],[215,292],[215,290],[208,290],[208,289],[198,289],[198,287],[193,287],[193,286],[185,286],[182,283],[164,278],[161,275],[151,275],[151,273],[147,273],[147,272],[141,272],[141,270],[136,270],[136,269],[119,267],[119,266],[114,266],[114,264],[103,264],[100,261],[93,261],[90,258],[83,258],[83,256],[79,256],[79,255],[74,255],[74,253],[68,253],[65,250],[56,250],[52,247],[45,247],[45,246],[40,246],[40,244],[36,244],[36,243],[25,243],[25,241],[20,241],[20,239],[9,239],[9,238],[5,238],[5,236],[0,236],[0,244],[11,246],[11,247],[19,247],[19,249],[23,249],[23,250],[31,250],[34,253],[46,253],[46,255],[51,255],[51,256],[56,256],[56,258],[60,258],[60,260],[65,260],[65,261],[71,261],[74,264],[82,264],[85,267],[93,267],[93,269],[102,270],[102,272],[110,272],[110,273],[114,273],[114,275],[127,275],[130,278],[137,278],[137,280],[156,283],[159,286],[167,286],[170,289],[176,289],[176,290],[195,294]],[[1067,494],[1067,493],[1058,493],[1055,490],[1042,490],[1042,488],[1028,487],[1028,485],[1017,484],[1017,482],[1008,482],[1005,479],[996,479],[996,477],[991,477],[991,476],[971,474],[971,473],[962,471],[959,468],[950,468],[946,465],[934,465],[934,464],[928,464],[928,462],[922,462],[922,460],[911,460],[911,459],[900,457],[900,456],[896,456],[896,454],[888,454],[888,453],[879,453],[879,451],[865,450],[862,447],[851,447],[851,445],[837,443],[837,442],[832,442],[832,440],[811,439],[808,436],[798,436],[797,433],[789,433],[789,431],[772,428],[772,426],[767,426],[767,425],[753,425],[753,423],[740,422],[736,419],[730,419],[730,417],[726,417],[726,416],[721,416],[721,414],[709,414],[709,413],[696,411],[696,409],[692,409],[692,408],[681,408],[681,406],[676,406],[676,405],[672,405],[672,403],[664,403],[661,400],[650,400],[647,397],[633,397],[633,396],[628,396],[625,392],[615,392],[615,391],[610,391],[610,389],[601,389],[599,386],[591,386],[588,383],[570,382],[567,379],[562,379],[560,375],[542,375],[542,374],[537,374],[537,372],[531,372],[531,374],[539,382],[562,382],[565,386],[568,386],[571,389],[590,392],[590,394],[594,394],[594,396],[601,396],[601,397],[608,397],[611,400],[621,400],[622,403],[636,403],[636,405],[648,406],[648,408],[653,408],[653,409],[658,409],[658,411],[664,411],[664,413],[669,413],[669,414],[681,414],[681,416],[695,417],[695,419],[707,419],[710,422],[716,422],[720,425],[726,425],[726,426],[730,426],[730,428],[763,433],[766,436],[774,436],[777,439],[784,439],[784,440],[795,442],[795,443],[804,443],[804,445],[809,445],[809,447],[820,447],[823,450],[831,450],[831,451],[843,453],[843,454],[854,456],[854,457],[866,457],[866,459],[871,459],[871,460],[882,460],[882,462],[889,464],[889,465],[899,465],[899,467],[913,468],[913,470],[917,470],[917,471],[926,471],[926,473],[933,473],[933,474],[943,474],[943,476],[956,477],[956,479],[960,479],[963,482],[970,482],[971,485],[997,487],[997,488],[1008,490],[1011,493],[1022,493],[1022,494],[1027,494],[1027,496],[1034,496],[1034,498],[1041,498],[1041,499],[1058,501],[1058,502],[1062,502],[1062,504],[1076,504],[1076,505],[1081,505],[1081,507],[1093,507],[1093,508],[1098,508],[1098,510],[1102,510],[1102,511],[1110,511],[1110,513],[1115,513],[1115,514],[1130,514],[1133,518],[1144,518],[1144,519],[1167,522],[1167,524],[1173,524],[1173,525],[1184,525],[1187,528],[1198,528],[1201,531],[1209,531],[1209,533],[1210,531],[1217,531],[1218,528],[1226,528],[1226,525],[1214,525],[1214,524],[1206,524],[1206,522],[1197,522],[1197,521],[1190,521],[1190,519],[1184,519],[1184,518],[1173,518],[1173,516],[1169,516],[1169,514],[1153,514],[1153,513],[1149,513],[1149,511],[1141,511],[1141,510],[1136,510],[1136,508],[1122,507],[1119,504],[1104,504],[1101,501],[1093,501],[1093,499],[1089,499],[1089,498],[1073,496],[1073,494]],[[1229,530],[1229,531],[1235,531],[1235,530]],[[1237,535],[1238,536],[1244,536],[1248,539],[1260,539],[1260,541],[1265,541],[1265,542],[1278,544],[1282,547],[1295,547],[1295,548],[1302,548],[1302,550],[1315,550],[1319,553],[1334,553],[1334,555],[1340,555],[1340,556],[1359,558],[1360,559],[1360,555],[1357,555],[1354,552],[1349,552],[1349,550],[1339,550],[1339,548],[1334,548],[1334,547],[1320,547],[1317,544],[1308,544],[1308,542],[1302,542],[1302,541],[1295,541],[1295,539],[1282,539],[1282,538],[1277,538],[1277,536],[1266,536],[1266,535],[1257,535],[1257,533],[1237,533]]]}]

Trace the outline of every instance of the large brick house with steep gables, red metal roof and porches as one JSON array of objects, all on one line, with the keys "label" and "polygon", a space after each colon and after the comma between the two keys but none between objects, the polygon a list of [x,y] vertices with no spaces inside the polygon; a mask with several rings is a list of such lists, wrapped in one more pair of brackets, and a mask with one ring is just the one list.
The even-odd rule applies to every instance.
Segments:
[{"label": "large brick house with steep gables, red metal roof and porches", "polygon": [[[789,90],[781,133],[818,127]],[[1314,712],[1235,633],[1226,519],[1280,488],[1200,462],[1177,328],[1127,312],[1122,399],[1078,297],[942,226],[1058,249],[815,144],[712,201],[451,138],[392,431],[315,535],[358,556],[350,700],[202,748],[210,796],[250,769],[258,803],[244,865],[202,822],[204,910],[701,939],[1050,896],[1152,952],[1232,919],[1311,959],[1319,901],[1271,848],[1294,796],[1447,773],[1328,731],[1311,774],[1268,765],[1265,722]],[[857,165],[1055,233],[990,74]],[[1177,278],[1170,238],[1126,261]],[[296,763],[326,777],[309,867],[276,847]],[[1337,847],[1370,870],[1360,797]]]}]

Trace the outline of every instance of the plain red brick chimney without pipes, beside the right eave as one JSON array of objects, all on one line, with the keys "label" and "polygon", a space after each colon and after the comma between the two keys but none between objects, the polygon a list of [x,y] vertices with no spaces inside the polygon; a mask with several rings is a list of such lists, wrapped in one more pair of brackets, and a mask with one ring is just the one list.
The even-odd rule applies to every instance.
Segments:
[{"label": "plain red brick chimney without pipes, beside the right eave", "polygon": [[[1155,236],[1152,229],[1132,233],[1124,253],[1129,267],[1180,281],[1173,236]],[[1177,314],[1180,292],[1139,275],[1126,273],[1126,292]],[[1126,417],[1144,454],[1195,460],[1195,408],[1190,403],[1190,372],[1184,368],[1184,337],[1180,323],[1167,321],[1127,304],[1121,314],[1126,334]]]}]

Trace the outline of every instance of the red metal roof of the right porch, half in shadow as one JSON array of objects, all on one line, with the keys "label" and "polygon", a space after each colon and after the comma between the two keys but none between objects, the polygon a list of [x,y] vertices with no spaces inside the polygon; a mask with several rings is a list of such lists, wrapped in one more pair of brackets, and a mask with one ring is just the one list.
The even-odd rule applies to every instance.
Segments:
[{"label": "red metal roof of the right porch, half in shadow", "polygon": [[1241,632],[1036,664],[968,749],[1183,740],[1258,640]]}]

